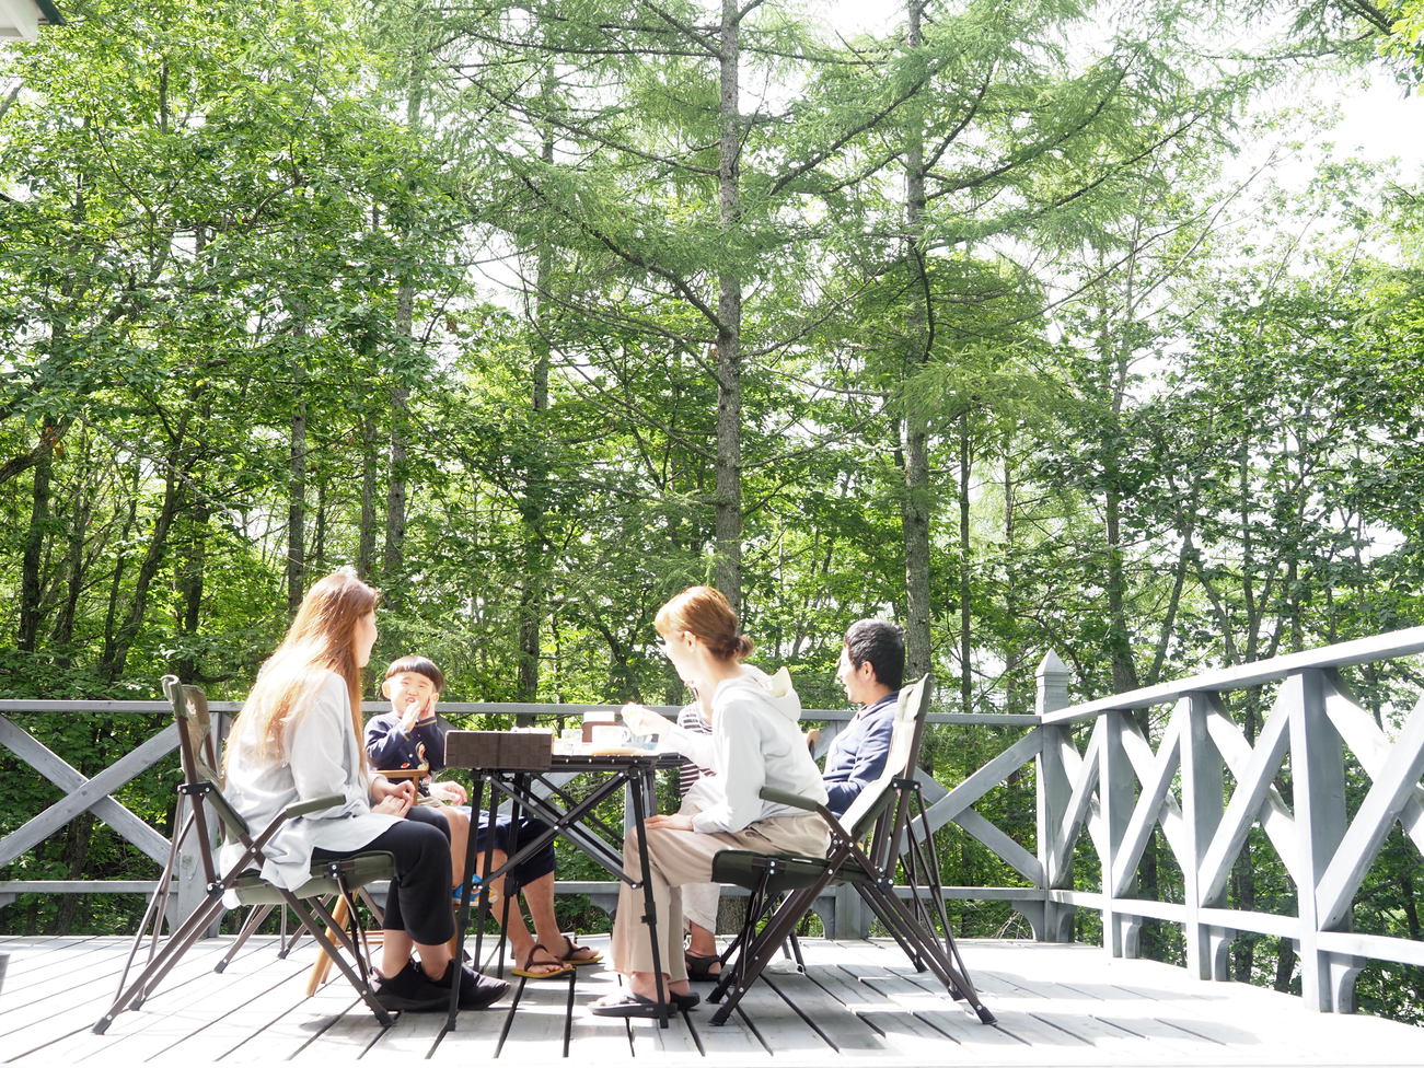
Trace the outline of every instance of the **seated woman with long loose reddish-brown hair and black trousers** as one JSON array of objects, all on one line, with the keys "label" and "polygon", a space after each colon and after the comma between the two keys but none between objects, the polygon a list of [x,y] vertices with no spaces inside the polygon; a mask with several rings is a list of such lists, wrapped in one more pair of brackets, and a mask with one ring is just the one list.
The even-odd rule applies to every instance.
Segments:
[{"label": "seated woman with long loose reddish-brown hair and black trousers", "polygon": [[483,1008],[508,984],[451,958],[446,822],[412,807],[409,782],[372,775],[360,743],[362,669],[376,644],[377,598],[345,572],[308,591],[234,726],[225,793],[255,826],[296,802],[339,795],[340,805],[292,819],[272,836],[262,850],[263,879],[295,890],[310,879],[313,860],[392,853],[376,998],[390,1010],[439,1010],[459,978],[460,1007]]}]

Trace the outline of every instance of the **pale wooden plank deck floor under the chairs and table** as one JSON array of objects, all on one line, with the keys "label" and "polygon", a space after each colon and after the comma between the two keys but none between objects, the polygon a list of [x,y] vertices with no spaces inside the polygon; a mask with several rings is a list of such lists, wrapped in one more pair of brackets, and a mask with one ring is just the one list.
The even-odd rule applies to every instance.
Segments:
[{"label": "pale wooden plank deck floor under the chairs and table", "polygon": [[[590,940],[597,944],[598,940]],[[528,983],[517,1012],[400,1017],[382,1031],[340,980],[303,998],[310,947],[278,960],[253,940],[228,973],[228,940],[195,947],[141,1011],[107,1035],[88,1027],[114,994],[120,938],[6,938],[0,1061],[48,1064],[430,1059],[518,1065],[565,1059],[567,981]],[[584,1005],[617,983],[582,968],[568,1057],[598,1068],[629,1062],[826,1065],[1421,1065],[1424,1030],[1368,1017],[1317,1015],[1299,1000],[1236,984],[1196,983],[1148,961],[1114,961],[1085,946],[981,941],[961,946],[985,1004],[984,1027],[911,971],[893,943],[805,943],[809,973],[779,974],[726,1027],[706,1008],[674,1020],[591,1017]],[[506,1031],[507,1028],[507,1031]]]}]

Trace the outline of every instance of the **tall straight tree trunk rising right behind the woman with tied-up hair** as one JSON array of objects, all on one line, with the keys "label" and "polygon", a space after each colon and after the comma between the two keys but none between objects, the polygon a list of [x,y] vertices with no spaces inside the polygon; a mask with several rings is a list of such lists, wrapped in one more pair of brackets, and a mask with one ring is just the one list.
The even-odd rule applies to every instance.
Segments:
[{"label": "tall straight tree trunk rising right behind the woman with tied-up hair", "polygon": [[[722,0],[718,194],[726,231],[742,218],[740,11]],[[716,585],[742,611],[742,275],[718,272],[716,337]]]}]

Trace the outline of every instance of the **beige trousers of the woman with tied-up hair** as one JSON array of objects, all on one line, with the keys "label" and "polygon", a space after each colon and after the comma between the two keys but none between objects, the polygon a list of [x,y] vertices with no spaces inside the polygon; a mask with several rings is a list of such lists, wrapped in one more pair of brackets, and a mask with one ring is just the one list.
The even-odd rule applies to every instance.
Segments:
[{"label": "beige trousers of the woman with tied-up hair", "polygon": [[[723,849],[746,849],[753,853],[826,856],[830,846],[826,822],[815,813],[758,820],[739,832],[703,834],[659,827],[649,829],[646,834],[659,963],[674,983],[688,977],[682,958],[682,887],[709,881],[716,853]],[[637,830],[629,830],[624,837],[624,871],[629,879],[642,879]],[[652,943],[642,918],[642,889],[634,890],[622,883],[618,887],[618,916],[614,920],[609,953],[609,964],[615,971],[652,971]]]}]

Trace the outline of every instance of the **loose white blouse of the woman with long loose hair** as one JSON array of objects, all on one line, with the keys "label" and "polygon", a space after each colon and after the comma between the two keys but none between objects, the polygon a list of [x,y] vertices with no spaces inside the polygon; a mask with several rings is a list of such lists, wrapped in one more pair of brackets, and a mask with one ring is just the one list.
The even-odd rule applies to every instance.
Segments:
[{"label": "loose white blouse of the woman with long loose hair", "polygon": [[[288,820],[271,837],[262,864],[268,881],[295,890],[310,879],[313,847],[356,850],[400,820],[370,810],[372,776],[362,773],[350,695],[336,672],[316,672],[306,684],[283,735],[285,760],[261,758],[249,733],[239,716],[228,740],[222,792],[253,836],[299,800],[328,795],[345,799],[342,805]],[[222,849],[224,866],[235,864],[241,856],[239,844]]]}]

